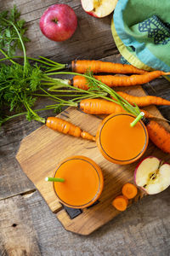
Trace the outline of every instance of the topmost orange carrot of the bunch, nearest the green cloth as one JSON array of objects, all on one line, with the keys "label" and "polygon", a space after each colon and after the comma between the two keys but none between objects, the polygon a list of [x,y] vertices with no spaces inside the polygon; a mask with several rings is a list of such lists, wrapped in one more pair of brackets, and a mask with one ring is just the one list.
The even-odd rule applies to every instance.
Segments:
[{"label": "topmost orange carrot of the bunch, nearest the green cloth", "polygon": [[86,73],[90,69],[93,73],[147,73],[132,65],[105,61],[79,60],[71,62],[71,70],[77,73]]}]

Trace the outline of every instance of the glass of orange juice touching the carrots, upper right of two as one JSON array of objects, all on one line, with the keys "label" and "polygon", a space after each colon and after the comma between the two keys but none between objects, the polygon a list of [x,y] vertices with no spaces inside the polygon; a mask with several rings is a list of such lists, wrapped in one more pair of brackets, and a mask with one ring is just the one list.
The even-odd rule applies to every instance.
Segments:
[{"label": "glass of orange juice touching the carrots, upper right of two", "polygon": [[131,113],[111,114],[99,125],[96,142],[107,160],[126,165],[144,154],[149,140],[148,132],[141,120],[130,126],[135,118]]}]

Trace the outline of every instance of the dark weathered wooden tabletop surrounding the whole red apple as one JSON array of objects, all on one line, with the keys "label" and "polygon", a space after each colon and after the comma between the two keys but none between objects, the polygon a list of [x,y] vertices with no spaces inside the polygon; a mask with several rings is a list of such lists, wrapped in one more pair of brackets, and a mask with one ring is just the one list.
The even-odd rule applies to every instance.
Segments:
[{"label": "dark weathered wooden tabletop surrounding the whole red apple", "polygon": [[[54,42],[42,35],[39,28],[39,19],[48,6],[56,3],[54,0],[30,1],[1,1],[3,9],[11,8],[14,3],[21,11],[21,18],[27,21],[27,35],[31,42],[26,44],[27,54],[33,57],[48,56],[55,61],[66,63],[75,58],[99,59],[107,55],[118,53],[111,35],[111,15],[104,19],[96,19],[82,9],[80,1],[67,1],[77,14],[77,31],[65,42]],[[65,3],[65,1],[59,1]],[[33,45],[33,47],[32,47]],[[68,47],[69,45],[69,47]],[[81,45],[81,47],[80,47]]]}]

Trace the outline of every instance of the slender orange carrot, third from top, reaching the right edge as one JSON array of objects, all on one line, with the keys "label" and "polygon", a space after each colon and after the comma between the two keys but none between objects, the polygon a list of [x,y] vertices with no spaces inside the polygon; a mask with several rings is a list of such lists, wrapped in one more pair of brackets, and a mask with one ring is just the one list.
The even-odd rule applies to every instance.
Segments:
[{"label": "slender orange carrot, third from top, reaching the right edge", "polygon": [[117,93],[122,96],[123,99],[127,100],[130,104],[134,106],[134,103],[139,107],[145,107],[150,105],[167,105],[170,106],[170,101],[167,101],[161,97],[157,96],[131,96],[123,91],[117,91]]}]

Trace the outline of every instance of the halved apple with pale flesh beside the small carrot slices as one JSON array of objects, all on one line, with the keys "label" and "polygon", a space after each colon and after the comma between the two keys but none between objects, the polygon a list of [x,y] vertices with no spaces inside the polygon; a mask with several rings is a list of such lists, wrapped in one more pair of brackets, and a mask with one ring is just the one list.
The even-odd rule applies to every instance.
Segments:
[{"label": "halved apple with pale flesh beside the small carrot slices", "polygon": [[160,193],[170,185],[170,165],[149,156],[136,167],[134,181],[149,195]]}]

